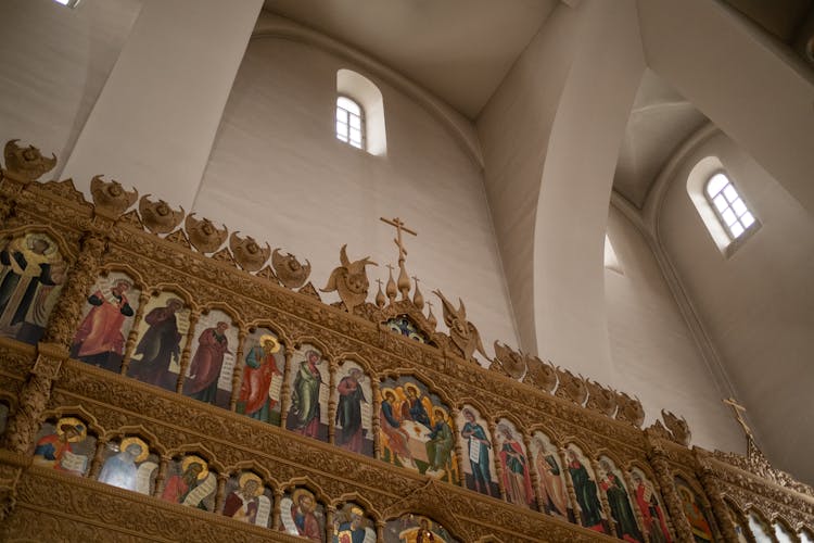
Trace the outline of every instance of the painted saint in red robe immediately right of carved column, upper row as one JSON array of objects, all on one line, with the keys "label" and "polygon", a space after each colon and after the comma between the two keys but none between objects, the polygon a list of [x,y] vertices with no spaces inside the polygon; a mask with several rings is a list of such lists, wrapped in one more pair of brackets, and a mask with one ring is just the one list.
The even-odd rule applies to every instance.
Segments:
[{"label": "painted saint in red robe immediately right of carved column, upper row", "polygon": [[97,290],[88,296],[88,303],[92,308],[79,325],[71,356],[111,371],[118,371],[125,350],[122,328],[125,318],[135,315],[127,299],[127,292],[131,287],[130,281],[117,279],[110,291]]}]

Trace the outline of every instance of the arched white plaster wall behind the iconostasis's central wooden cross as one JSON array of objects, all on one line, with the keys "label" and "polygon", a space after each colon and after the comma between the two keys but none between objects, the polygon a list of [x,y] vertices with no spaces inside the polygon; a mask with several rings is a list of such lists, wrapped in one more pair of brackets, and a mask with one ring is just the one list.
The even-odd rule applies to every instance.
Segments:
[{"label": "arched white plaster wall behind the iconostasis's central wooden cross", "polygon": [[[382,91],[385,156],[335,139],[340,68]],[[419,233],[405,235],[407,268],[424,298],[436,303],[434,289],[462,298],[489,354],[495,339],[517,344],[480,168],[436,116],[333,53],[276,37],[250,42],[193,211],[310,260],[317,288],[344,243],[352,260],[380,264],[371,279],[386,280],[395,230],[379,217],[399,216]],[[434,313],[443,320],[440,303]]]}]

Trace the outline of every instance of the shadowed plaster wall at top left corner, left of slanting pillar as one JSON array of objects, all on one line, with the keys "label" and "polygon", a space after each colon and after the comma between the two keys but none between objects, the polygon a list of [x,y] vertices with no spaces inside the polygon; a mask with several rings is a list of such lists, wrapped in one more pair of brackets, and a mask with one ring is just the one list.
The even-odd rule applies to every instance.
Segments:
[{"label": "shadowed plaster wall at top left corner, left of slanting pillar", "polygon": [[142,0],[0,2],[0,143],[55,153],[59,172],[141,9]]}]

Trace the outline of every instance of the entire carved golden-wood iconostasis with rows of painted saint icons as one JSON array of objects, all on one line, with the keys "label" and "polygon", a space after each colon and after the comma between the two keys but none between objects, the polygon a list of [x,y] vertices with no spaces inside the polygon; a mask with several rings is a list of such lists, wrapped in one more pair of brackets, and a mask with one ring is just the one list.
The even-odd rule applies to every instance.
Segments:
[{"label": "entire carved golden-wood iconostasis with rows of painted saint icons", "polygon": [[409,276],[398,218],[386,281],[348,247],[320,281],[163,201],[128,211],[137,193],[115,181],[96,178],[92,204],[37,182],[53,160],[34,148],[10,142],[5,164],[10,538],[809,538],[811,489],[767,464],[737,408],[748,457],[688,449],[667,412],[643,431],[635,397],[507,345],[481,368],[465,303],[436,289],[433,307]]}]

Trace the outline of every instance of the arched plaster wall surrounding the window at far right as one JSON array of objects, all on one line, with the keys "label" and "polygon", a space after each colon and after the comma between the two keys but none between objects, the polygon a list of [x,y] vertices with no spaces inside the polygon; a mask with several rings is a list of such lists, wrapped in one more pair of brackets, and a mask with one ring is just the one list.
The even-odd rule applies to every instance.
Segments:
[{"label": "arched plaster wall surrounding the window at far right", "polygon": [[[687,191],[692,166],[720,157],[762,227],[726,257]],[[723,134],[687,155],[659,215],[662,244],[779,468],[814,481],[814,218]]]}]

